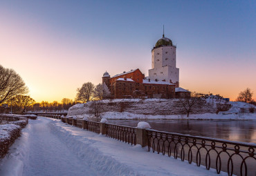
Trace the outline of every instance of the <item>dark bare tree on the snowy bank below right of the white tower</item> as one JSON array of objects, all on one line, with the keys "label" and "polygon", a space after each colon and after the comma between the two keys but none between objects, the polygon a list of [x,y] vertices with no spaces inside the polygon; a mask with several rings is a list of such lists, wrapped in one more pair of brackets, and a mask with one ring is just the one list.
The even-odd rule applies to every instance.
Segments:
[{"label": "dark bare tree on the snowy bank below right of the white tower", "polygon": [[190,115],[190,112],[193,110],[194,106],[201,106],[202,101],[199,97],[185,97],[180,98],[179,101],[182,104],[183,110],[187,113],[187,117]]}]

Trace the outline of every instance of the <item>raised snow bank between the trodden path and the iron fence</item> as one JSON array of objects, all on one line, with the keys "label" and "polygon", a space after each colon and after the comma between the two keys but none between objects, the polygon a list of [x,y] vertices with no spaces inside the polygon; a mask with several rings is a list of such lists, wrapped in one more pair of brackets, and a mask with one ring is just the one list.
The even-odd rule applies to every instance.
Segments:
[{"label": "raised snow bank between the trodden path and the iron fence", "polygon": [[[81,162],[89,160],[89,166],[97,170],[98,175],[218,175],[215,169],[206,170],[204,166],[197,167],[167,155],[149,153],[140,145],[127,145],[116,139],[66,126],[60,121],[53,121],[49,127]],[[220,175],[226,173],[221,172]]]}]

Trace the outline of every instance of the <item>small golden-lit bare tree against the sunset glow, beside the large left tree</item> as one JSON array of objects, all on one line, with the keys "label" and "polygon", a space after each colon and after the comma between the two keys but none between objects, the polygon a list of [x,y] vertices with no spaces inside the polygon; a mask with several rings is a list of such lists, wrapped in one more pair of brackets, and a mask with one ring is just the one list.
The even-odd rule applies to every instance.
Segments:
[{"label": "small golden-lit bare tree against the sunset glow, beside the large left tree", "polygon": [[17,110],[17,113],[24,113],[26,108],[35,104],[35,100],[28,95],[17,95],[13,97],[10,101],[12,101],[12,104]]}]

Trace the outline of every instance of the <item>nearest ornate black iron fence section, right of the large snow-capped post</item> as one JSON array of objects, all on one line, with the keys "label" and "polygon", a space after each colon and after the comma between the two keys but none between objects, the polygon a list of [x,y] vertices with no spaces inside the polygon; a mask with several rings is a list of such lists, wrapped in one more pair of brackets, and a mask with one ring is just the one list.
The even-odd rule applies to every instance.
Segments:
[{"label": "nearest ornate black iron fence section, right of the large snow-capped post", "polygon": [[157,130],[146,130],[148,150],[153,153],[178,157],[191,164],[205,166],[208,170],[215,168],[228,175],[255,175],[255,144],[226,141],[208,137],[195,137],[179,133],[166,133]]}]

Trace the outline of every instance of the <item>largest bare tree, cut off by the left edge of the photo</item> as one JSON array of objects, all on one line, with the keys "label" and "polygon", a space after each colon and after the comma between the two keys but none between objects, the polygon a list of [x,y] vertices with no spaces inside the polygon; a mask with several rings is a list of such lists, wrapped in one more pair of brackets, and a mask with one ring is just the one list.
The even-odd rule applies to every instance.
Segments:
[{"label": "largest bare tree, cut off by the left edge of the photo", "polygon": [[0,65],[0,104],[8,101],[16,95],[28,93],[24,81],[15,70],[3,68]]}]

